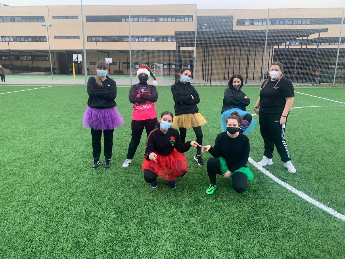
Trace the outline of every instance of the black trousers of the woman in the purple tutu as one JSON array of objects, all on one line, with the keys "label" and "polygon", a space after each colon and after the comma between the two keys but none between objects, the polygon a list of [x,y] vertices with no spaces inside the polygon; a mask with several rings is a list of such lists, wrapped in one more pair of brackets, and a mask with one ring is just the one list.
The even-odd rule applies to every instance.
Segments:
[{"label": "black trousers of the woman in the purple tutu", "polygon": [[[114,135],[114,130],[103,131],[104,137],[104,156],[106,160],[111,159],[112,153],[112,137]],[[93,160],[98,161],[99,156],[101,155],[101,137],[102,130],[94,130],[91,128],[92,136],[92,156]]]}]

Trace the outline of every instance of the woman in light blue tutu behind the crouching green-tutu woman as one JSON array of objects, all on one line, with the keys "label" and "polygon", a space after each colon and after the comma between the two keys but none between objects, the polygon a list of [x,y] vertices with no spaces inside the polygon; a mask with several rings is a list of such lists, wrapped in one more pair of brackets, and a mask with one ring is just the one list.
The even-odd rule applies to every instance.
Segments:
[{"label": "woman in light blue tutu behind the crouching green-tutu woman", "polygon": [[250,103],[248,96],[241,91],[243,86],[243,77],[241,74],[231,76],[229,87],[225,89],[223,98],[223,107],[221,108],[220,126],[221,131],[226,131],[226,118],[234,111],[242,116],[243,120],[239,127],[239,132],[248,135],[255,128],[256,121],[252,115],[247,112],[246,107]]}]

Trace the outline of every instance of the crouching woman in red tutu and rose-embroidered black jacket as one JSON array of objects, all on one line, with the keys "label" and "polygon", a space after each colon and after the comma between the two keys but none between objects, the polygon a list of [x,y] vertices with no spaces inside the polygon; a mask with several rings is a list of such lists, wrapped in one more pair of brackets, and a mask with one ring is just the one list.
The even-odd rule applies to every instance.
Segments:
[{"label": "crouching woman in red tutu and rose-embroidered black jacket", "polygon": [[159,175],[169,181],[171,189],[175,189],[175,179],[188,172],[187,160],[182,153],[188,151],[191,146],[199,146],[195,141],[182,143],[178,130],[170,127],[173,118],[171,112],[162,113],[157,127],[147,138],[142,170],[144,179],[150,183],[151,188],[157,187],[156,180]]}]

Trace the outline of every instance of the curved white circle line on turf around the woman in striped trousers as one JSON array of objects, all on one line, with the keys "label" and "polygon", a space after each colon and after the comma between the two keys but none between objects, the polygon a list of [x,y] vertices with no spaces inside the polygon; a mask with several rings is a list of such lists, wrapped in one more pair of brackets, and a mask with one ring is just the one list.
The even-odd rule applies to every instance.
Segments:
[{"label": "curved white circle line on turf around the woman in striped trousers", "polygon": [[[301,106],[301,107],[293,107],[292,109],[298,109],[298,108],[314,108],[314,107],[345,107],[345,105],[320,105],[320,106]],[[252,114],[252,116],[256,115],[256,113]],[[336,210],[333,210],[332,208],[327,207],[326,205],[322,204],[321,202],[318,202],[316,200],[314,200],[313,198],[309,197],[307,194],[305,194],[304,192],[301,192],[299,190],[297,190],[296,188],[292,187],[291,185],[289,185],[288,183],[284,182],[283,180],[280,180],[279,178],[277,178],[276,176],[274,176],[272,173],[270,173],[269,171],[267,171],[264,167],[257,165],[257,162],[255,162],[252,157],[249,157],[248,159],[249,163],[251,163],[252,165],[254,165],[259,171],[261,171],[263,174],[267,175],[269,178],[271,178],[272,180],[274,180],[275,182],[279,183],[280,185],[282,185],[283,187],[285,187],[286,189],[288,189],[289,191],[292,191],[293,193],[297,194],[300,198],[302,198],[303,200],[314,204],[316,207],[326,211],[327,213],[331,214],[332,216],[341,219],[343,221],[345,221],[345,215],[337,212]]]}]

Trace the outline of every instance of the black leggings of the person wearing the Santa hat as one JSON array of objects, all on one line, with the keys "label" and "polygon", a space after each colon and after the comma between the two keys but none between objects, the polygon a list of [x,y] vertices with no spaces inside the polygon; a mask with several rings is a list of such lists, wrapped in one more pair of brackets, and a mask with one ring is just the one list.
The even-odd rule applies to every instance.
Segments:
[{"label": "black leggings of the person wearing the Santa hat", "polygon": [[132,139],[129,142],[127,159],[133,159],[135,152],[137,151],[140,143],[141,134],[146,130],[146,135],[149,136],[150,132],[155,129],[157,125],[157,118],[146,119],[144,121],[132,120]]}]

